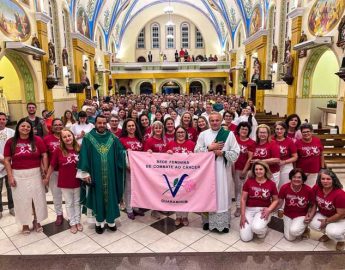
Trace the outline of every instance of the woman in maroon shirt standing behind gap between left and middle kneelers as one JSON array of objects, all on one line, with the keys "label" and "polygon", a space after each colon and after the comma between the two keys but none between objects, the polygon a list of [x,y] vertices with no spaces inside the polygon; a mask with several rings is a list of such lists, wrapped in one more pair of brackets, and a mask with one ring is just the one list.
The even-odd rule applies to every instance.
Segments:
[{"label": "woman in maroon shirt standing behind gap between left and middle kneelers", "polygon": [[273,140],[279,147],[280,153],[280,187],[289,182],[289,173],[293,169],[293,163],[297,160],[297,149],[295,143],[287,137],[287,126],[284,122],[278,121],[274,125]]}]

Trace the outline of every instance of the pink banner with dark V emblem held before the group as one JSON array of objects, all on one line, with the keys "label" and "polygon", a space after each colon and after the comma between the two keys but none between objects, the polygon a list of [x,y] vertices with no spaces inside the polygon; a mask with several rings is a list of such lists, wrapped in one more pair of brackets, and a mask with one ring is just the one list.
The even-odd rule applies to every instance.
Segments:
[{"label": "pink banner with dark V emblem held before the group", "polygon": [[179,212],[216,211],[213,153],[128,153],[132,207]]}]

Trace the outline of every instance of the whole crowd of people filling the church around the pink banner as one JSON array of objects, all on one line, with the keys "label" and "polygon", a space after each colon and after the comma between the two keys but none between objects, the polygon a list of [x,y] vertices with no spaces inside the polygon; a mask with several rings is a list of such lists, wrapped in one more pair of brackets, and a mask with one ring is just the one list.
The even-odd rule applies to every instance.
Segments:
[{"label": "whole crowd of people filling the church around the pink banner", "polygon": [[[0,113],[1,183],[6,183],[10,213],[22,225],[42,231],[47,218],[47,187],[53,195],[57,226],[63,222],[62,198],[71,233],[83,230],[84,212],[95,230],[116,231],[120,210],[128,218],[145,215],[131,205],[128,151],[212,152],[216,162],[217,211],[201,213],[202,227],[218,233],[240,217],[240,238],[264,238],[272,215],[284,221],[293,241],[321,231],[320,241],[344,249],[345,192],[327,169],[323,145],[312,126],[296,114],[273,129],[258,125],[256,108],[244,97],[219,95],[130,95],[86,100],[62,118],[28,116],[15,131]],[[81,181],[80,181],[81,180]],[[231,181],[236,210],[230,213]],[[2,203],[0,204],[2,210]],[[82,206],[82,207],[81,207]],[[151,209],[154,219],[162,213]],[[1,212],[0,212],[1,213]],[[188,213],[176,213],[176,226],[188,226]]]}]

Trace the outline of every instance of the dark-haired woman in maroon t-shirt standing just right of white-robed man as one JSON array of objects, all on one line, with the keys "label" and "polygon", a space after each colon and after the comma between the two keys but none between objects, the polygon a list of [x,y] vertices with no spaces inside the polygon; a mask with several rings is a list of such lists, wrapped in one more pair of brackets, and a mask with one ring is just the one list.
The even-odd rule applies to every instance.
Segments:
[{"label": "dark-haired woman in maroon t-shirt standing just right of white-robed man", "polygon": [[241,192],[244,180],[247,177],[248,170],[250,168],[250,162],[253,158],[253,152],[255,150],[255,142],[249,138],[252,131],[252,126],[248,122],[241,122],[236,129],[236,140],[240,146],[240,154],[235,162],[235,198],[236,198],[236,211],[235,217],[241,215]]}]

